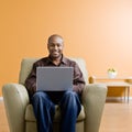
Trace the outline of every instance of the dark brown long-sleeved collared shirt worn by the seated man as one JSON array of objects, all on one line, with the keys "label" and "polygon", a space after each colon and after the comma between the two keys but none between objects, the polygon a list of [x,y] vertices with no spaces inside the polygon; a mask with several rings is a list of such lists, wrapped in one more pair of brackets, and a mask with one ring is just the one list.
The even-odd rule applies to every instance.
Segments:
[{"label": "dark brown long-sleeved collared shirt worn by the seated man", "polygon": [[69,58],[66,58],[64,56],[62,57],[61,64],[55,65],[52,58],[47,56],[47,57],[38,59],[37,62],[33,64],[33,68],[25,80],[25,87],[29,91],[30,97],[32,97],[33,94],[36,92],[36,67],[38,66],[74,67],[73,90],[76,91],[77,94],[81,94],[85,87],[85,80],[84,80],[82,73],[80,72],[78,65],[74,61],[70,61]]}]

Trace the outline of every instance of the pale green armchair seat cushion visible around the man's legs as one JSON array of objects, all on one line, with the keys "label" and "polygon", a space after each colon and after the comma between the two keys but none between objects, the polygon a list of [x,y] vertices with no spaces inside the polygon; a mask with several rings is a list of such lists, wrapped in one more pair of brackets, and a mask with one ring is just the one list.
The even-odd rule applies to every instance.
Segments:
[{"label": "pale green armchair seat cushion visible around the man's legs", "polygon": [[[36,121],[33,112],[33,107],[32,105],[28,105],[26,110],[25,110],[25,120],[26,121]],[[85,120],[85,110],[84,107],[81,106],[81,111],[77,118],[77,121]],[[59,122],[61,121],[61,110],[58,106],[55,106],[55,117],[54,117],[54,122]]]}]

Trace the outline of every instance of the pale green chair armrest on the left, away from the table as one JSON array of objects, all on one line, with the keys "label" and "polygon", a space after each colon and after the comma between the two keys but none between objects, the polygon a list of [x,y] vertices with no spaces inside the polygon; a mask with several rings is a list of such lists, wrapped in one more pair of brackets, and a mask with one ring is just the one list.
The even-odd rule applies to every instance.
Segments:
[{"label": "pale green chair armrest on the left, away from the table", "polygon": [[10,132],[24,132],[24,113],[29,95],[23,85],[7,84],[2,87],[6,113]]}]

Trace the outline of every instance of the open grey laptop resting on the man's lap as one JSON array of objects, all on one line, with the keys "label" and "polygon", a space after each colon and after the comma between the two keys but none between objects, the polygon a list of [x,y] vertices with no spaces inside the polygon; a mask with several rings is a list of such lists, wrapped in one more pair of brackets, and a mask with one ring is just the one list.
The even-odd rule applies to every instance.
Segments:
[{"label": "open grey laptop resting on the man's lap", "polygon": [[73,90],[73,67],[37,67],[36,89],[43,91]]}]

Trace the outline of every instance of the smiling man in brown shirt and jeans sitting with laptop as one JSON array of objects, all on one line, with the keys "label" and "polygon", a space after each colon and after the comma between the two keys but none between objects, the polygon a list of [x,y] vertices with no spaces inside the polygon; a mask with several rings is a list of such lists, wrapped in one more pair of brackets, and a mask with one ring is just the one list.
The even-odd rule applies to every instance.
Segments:
[{"label": "smiling man in brown shirt and jeans sitting with laptop", "polygon": [[[50,55],[34,63],[25,80],[38,132],[53,132],[55,105],[58,105],[62,111],[61,132],[76,132],[76,119],[81,110],[80,95],[85,80],[78,65],[64,57],[63,48],[64,40],[61,35],[50,36],[47,41]],[[36,91],[36,67],[38,66],[74,67],[73,91]]]}]

